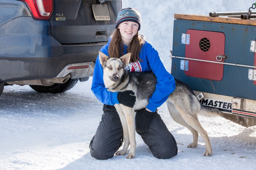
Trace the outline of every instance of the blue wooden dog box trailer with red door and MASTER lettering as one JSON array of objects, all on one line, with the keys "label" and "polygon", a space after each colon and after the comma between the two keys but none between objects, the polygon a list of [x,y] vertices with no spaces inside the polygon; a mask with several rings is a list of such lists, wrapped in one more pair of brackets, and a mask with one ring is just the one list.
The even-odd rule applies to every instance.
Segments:
[{"label": "blue wooden dog box trailer with red door and MASTER lettering", "polygon": [[171,74],[188,84],[201,104],[219,108],[222,117],[242,126],[255,126],[256,16],[209,15],[174,15]]}]

